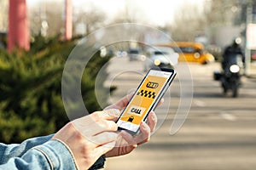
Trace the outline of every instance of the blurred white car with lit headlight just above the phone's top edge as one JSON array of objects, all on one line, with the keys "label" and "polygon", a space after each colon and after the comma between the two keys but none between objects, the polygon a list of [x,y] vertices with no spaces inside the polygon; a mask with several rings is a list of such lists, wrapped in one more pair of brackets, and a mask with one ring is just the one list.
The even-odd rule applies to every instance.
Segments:
[{"label": "blurred white car with lit headlight just above the phone's top edge", "polygon": [[173,68],[177,64],[178,54],[172,48],[155,47],[148,49],[144,60],[144,71],[154,67]]}]

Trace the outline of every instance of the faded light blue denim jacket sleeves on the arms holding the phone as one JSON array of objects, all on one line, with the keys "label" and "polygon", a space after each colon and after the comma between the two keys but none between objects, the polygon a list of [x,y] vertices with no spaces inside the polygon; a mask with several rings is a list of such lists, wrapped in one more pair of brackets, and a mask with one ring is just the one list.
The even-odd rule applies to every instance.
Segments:
[{"label": "faded light blue denim jacket sleeves on the arms holding the phone", "polygon": [[[53,136],[27,139],[21,144],[0,144],[0,170],[2,169],[78,169],[73,153]],[[104,166],[105,158],[100,157],[90,169]]]}]

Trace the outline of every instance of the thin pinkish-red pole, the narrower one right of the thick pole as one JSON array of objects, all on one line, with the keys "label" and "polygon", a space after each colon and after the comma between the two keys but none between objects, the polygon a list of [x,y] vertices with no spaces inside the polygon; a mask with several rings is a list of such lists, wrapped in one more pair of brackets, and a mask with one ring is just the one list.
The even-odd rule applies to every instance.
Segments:
[{"label": "thin pinkish-red pole, the narrower one right of the thick pole", "polygon": [[72,38],[72,0],[65,1],[65,39]]}]

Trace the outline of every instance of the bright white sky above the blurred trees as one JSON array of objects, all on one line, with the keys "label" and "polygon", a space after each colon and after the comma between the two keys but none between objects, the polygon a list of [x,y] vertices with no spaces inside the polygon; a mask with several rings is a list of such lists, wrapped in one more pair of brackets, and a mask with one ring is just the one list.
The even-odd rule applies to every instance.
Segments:
[{"label": "bright white sky above the blurred trees", "polygon": [[[32,6],[38,2],[49,1],[53,0],[26,0],[26,3],[28,6]],[[64,2],[64,0],[55,1]],[[178,12],[184,3],[201,5],[204,1],[206,0],[73,0],[73,8],[83,8],[86,4],[93,4],[96,8],[106,12],[109,18],[113,18],[128,6],[128,10],[135,11],[139,17],[148,21],[148,24],[165,26],[166,23],[172,23],[173,14]]]}]

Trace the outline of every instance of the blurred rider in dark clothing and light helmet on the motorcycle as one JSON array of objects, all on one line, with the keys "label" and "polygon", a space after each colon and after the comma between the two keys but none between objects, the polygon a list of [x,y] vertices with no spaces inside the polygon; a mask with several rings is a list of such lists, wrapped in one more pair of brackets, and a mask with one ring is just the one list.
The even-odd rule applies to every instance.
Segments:
[{"label": "blurred rider in dark clothing and light helmet on the motorcycle", "polygon": [[222,60],[222,68],[225,71],[226,67],[229,66],[229,64],[232,62],[232,60],[235,59],[234,56],[237,54],[241,55],[241,61],[244,63],[244,54],[242,53],[241,50],[241,38],[236,37],[234,41],[231,43],[230,46],[224,49],[224,54],[223,54],[223,60]]}]

